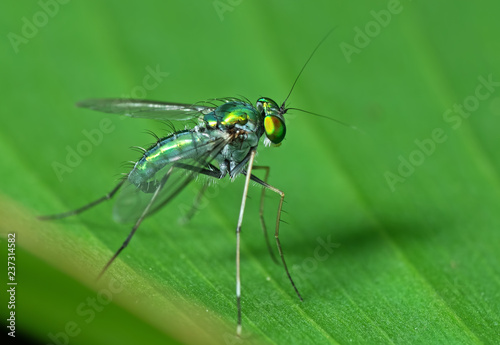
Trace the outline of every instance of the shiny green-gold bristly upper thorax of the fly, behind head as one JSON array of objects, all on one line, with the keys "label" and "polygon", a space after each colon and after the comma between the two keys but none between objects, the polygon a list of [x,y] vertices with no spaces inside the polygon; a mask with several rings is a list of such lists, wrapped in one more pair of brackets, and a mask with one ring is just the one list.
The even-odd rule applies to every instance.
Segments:
[{"label": "shiny green-gold bristly upper thorax of the fly, behind head", "polygon": [[255,133],[259,138],[262,135],[262,117],[254,106],[246,102],[226,102],[206,114],[203,120],[209,129],[235,128]]}]

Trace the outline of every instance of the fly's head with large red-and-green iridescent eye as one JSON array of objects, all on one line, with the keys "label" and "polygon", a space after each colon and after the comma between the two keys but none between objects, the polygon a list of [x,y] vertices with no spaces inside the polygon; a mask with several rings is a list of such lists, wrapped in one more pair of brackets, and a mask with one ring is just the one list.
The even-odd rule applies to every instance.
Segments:
[{"label": "fly's head with large red-and-green iridescent eye", "polygon": [[287,110],[285,103],[280,107],[272,99],[261,97],[257,100],[256,106],[257,111],[264,118],[264,133],[266,134],[264,144],[266,146],[281,145],[286,134],[285,117],[283,116]]}]

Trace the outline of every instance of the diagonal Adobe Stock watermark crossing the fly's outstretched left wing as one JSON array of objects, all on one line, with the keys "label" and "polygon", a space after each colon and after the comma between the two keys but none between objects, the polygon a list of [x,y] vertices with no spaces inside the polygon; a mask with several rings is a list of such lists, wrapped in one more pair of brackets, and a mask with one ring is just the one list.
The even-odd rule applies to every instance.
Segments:
[{"label": "diagonal Adobe Stock watermark crossing the fly's outstretched left wing", "polygon": [[[162,72],[160,65],[156,65],[153,69],[150,66],[146,67],[146,75],[142,79],[142,84],[133,87],[130,94],[122,95],[122,98],[144,98],[148,91],[157,88],[160,83],[169,75]],[[123,119],[122,117],[121,119]],[[115,117],[113,119],[119,119]],[[81,131],[83,139],[75,145],[66,145],[66,157],[63,163],[59,161],[52,162],[52,170],[57,176],[59,182],[62,182],[65,174],[72,173],[83,161],[83,158],[92,154],[95,147],[102,144],[105,134],[112,133],[116,129],[113,121],[105,117],[99,121],[97,128],[90,130],[84,129]]]}]

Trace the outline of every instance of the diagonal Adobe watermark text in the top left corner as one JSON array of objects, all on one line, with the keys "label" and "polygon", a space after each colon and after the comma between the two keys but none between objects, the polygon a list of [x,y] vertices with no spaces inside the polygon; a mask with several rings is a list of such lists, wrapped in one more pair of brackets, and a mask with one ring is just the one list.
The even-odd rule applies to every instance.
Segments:
[{"label": "diagonal Adobe watermark text in the top left corner", "polygon": [[40,0],[37,2],[40,10],[29,17],[21,18],[21,28],[16,32],[9,32],[7,38],[14,52],[19,53],[22,44],[28,44],[29,41],[38,35],[49,21],[58,13],[61,5],[66,5],[70,0]]}]

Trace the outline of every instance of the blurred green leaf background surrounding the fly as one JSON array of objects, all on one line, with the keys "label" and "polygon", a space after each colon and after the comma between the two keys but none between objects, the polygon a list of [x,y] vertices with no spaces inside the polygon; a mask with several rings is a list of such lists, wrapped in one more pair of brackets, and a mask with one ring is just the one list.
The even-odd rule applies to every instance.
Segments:
[{"label": "blurred green leaf background surrounding the fly", "polygon": [[[498,341],[498,1],[4,7],[1,274],[6,234],[16,233],[18,334],[43,344]],[[242,237],[243,337],[234,336],[242,178],[211,187],[209,204],[181,226],[200,185],[187,188],[143,223],[99,282],[129,231],[112,222],[112,203],[61,221],[35,218],[111,190],[122,163],[138,158],[128,148],[152,141],[144,131],[166,133],[75,102],[281,102],[332,27],[289,105],[360,131],[291,112],[283,145],[260,147],[257,162],[286,193],[281,239],[304,302],[269,258],[254,187]],[[277,203],[266,198],[269,226]]]}]

